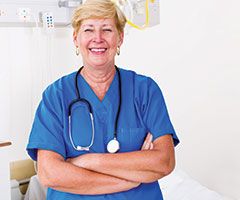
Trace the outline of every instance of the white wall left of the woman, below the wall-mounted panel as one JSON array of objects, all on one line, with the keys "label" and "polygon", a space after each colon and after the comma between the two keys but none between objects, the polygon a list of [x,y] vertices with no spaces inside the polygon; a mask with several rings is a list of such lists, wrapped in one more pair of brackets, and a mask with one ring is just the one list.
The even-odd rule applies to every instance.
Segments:
[{"label": "white wall left of the woman, below the wall-mounted panel", "polygon": [[31,28],[0,27],[0,140],[12,141],[11,160],[26,157],[33,113],[43,89],[74,69],[69,29],[59,29],[54,36]]}]

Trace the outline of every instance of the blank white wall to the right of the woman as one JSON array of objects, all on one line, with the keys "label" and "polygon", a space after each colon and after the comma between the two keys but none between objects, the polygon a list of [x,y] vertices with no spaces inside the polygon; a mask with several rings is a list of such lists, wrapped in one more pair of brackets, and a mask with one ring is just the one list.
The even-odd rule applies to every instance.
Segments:
[{"label": "blank white wall to the right of the woman", "polygon": [[161,25],[130,33],[121,63],[161,85],[181,138],[177,161],[240,199],[239,1],[161,1]]}]

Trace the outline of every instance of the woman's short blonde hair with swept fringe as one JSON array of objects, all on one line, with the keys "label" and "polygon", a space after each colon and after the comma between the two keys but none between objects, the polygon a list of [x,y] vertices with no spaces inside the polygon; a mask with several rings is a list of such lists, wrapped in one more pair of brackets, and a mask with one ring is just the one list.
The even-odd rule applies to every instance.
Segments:
[{"label": "woman's short blonde hair with swept fringe", "polygon": [[83,20],[115,19],[119,33],[123,33],[126,17],[112,0],[86,0],[75,11],[72,17],[72,27],[78,32]]}]

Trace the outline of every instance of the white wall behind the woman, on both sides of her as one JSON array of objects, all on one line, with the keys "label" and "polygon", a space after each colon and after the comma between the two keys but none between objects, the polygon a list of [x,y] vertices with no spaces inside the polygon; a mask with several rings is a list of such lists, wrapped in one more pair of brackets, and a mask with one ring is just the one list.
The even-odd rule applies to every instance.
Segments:
[{"label": "white wall behind the woman, on both sides of her", "polygon": [[[131,29],[117,59],[160,84],[181,139],[178,167],[238,199],[239,7],[237,0],[162,1],[161,25]],[[0,28],[0,44],[0,140],[13,141],[11,160],[18,160],[27,157],[32,110],[42,89],[79,61],[70,29],[50,38],[31,28]]]}]

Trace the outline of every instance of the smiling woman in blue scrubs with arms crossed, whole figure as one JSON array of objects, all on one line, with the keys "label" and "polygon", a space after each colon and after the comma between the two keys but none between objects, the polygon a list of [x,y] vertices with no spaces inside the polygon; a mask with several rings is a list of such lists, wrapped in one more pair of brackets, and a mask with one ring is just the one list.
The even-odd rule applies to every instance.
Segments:
[{"label": "smiling woman in blue scrubs with arms crossed, whole figure", "polygon": [[158,85],[115,65],[125,23],[111,0],[75,11],[83,66],[44,91],[27,147],[47,199],[162,199],[179,140]]}]

